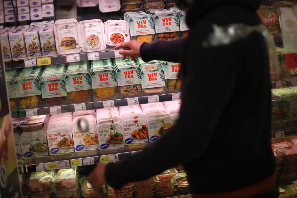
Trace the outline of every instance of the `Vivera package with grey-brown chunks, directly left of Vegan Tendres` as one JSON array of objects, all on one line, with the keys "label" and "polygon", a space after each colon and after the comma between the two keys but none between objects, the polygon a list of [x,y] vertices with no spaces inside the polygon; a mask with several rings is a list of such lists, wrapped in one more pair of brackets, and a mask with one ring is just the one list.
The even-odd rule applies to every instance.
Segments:
[{"label": "Vivera package with grey-brown chunks, directly left of Vegan Tendres", "polygon": [[141,89],[140,68],[136,65],[119,67],[116,70],[118,93],[121,97],[139,96]]}]

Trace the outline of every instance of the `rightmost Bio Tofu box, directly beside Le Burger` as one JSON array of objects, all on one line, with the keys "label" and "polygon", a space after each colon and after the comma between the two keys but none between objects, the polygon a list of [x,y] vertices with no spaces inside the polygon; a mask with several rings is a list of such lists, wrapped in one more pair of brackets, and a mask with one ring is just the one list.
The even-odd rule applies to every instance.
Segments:
[{"label": "rightmost Bio Tofu box, directly beside Le Burger", "polygon": [[50,27],[42,26],[39,29],[40,44],[43,55],[56,54],[56,45],[53,25]]}]

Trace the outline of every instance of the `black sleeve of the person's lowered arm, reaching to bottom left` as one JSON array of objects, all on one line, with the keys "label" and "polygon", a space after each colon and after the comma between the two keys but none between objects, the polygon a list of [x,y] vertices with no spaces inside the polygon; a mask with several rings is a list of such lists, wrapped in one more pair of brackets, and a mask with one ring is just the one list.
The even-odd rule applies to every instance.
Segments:
[{"label": "black sleeve of the person's lowered arm, reaching to bottom left", "polygon": [[[187,78],[183,79],[179,120],[171,131],[150,143],[151,147],[124,161],[107,165],[105,177],[112,187],[120,188],[125,183],[148,179],[173,166],[186,164],[199,158],[211,146],[213,131],[234,92],[236,74],[229,67],[222,67],[230,65],[229,60],[208,54],[200,54],[205,58],[200,62],[202,67],[197,67],[196,52],[189,54],[192,58],[187,65]],[[211,77],[206,75],[210,67],[215,71]],[[205,82],[208,82],[207,86]]]}]

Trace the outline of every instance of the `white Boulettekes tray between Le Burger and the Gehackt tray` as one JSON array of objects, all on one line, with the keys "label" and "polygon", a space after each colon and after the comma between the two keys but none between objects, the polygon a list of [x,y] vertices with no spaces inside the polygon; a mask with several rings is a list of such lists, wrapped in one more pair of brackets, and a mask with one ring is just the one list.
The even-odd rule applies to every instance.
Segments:
[{"label": "white Boulettekes tray between Le Burger and the Gehackt tray", "polygon": [[80,30],[83,36],[84,52],[106,48],[104,26],[100,19],[80,21]]}]

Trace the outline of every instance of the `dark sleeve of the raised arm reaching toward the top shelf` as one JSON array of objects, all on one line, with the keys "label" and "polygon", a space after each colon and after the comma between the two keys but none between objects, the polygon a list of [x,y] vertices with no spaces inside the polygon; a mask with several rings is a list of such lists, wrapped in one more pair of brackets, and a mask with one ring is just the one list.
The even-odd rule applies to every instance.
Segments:
[{"label": "dark sleeve of the raised arm reaching toward the top shelf", "polygon": [[140,46],[140,57],[144,62],[163,60],[181,62],[182,47],[186,39],[174,41],[157,41],[155,43],[143,43]]}]

